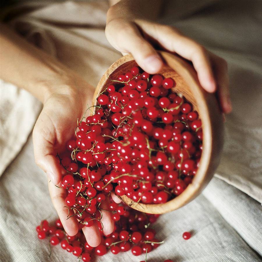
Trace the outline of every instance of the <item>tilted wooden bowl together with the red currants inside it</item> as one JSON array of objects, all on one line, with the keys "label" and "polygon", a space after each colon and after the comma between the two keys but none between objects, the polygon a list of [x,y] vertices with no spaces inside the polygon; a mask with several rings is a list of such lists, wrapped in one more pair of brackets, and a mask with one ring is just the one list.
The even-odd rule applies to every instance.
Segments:
[{"label": "tilted wooden bowl together with the red currants inside it", "polygon": [[123,56],[103,75],[93,99],[92,122],[105,138],[94,160],[112,167],[109,181],[123,202],[152,214],[199,195],[223,145],[215,95],[201,88],[192,65],[160,54],[165,66],[156,75],[141,70],[132,55]]}]

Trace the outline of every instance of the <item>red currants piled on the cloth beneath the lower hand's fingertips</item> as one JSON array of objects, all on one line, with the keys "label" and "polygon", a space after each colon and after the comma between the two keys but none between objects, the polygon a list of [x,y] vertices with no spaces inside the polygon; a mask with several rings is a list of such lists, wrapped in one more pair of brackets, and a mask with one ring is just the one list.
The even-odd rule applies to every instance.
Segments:
[{"label": "red currants piled on the cloth beneath the lower hand's fingertips", "polygon": [[149,224],[156,221],[158,215],[147,215],[128,207],[125,210],[123,206],[119,206],[115,202],[111,202],[109,209],[117,212],[114,213],[113,218],[115,221],[118,219],[117,221],[120,223],[115,225],[114,232],[109,236],[103,235],[100,223],[101,243],[95,248],[88,245],[82,231],[79,231],[75,236],[68,236],[59,219],[56,220],[55,226],[50,226],[47,220],[43,220],[36,227],[38,238],[44,239],[50,236],[51,245],[60,243],[63,249],[72,252],[77,257],[81,256],[83,261],[91,261],[92,252],[103,256],[108,250],[113,254],[118,254],[131,249],[134,256],[139,256],[142,253],[151,252],[152,249],[163,243],[155,238],[155,230],[148,227]]}]

